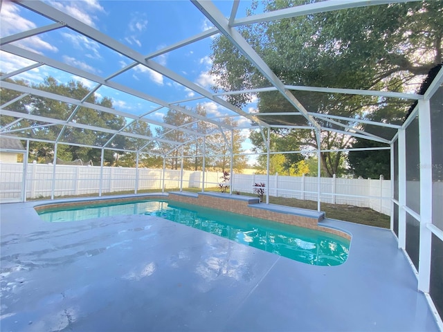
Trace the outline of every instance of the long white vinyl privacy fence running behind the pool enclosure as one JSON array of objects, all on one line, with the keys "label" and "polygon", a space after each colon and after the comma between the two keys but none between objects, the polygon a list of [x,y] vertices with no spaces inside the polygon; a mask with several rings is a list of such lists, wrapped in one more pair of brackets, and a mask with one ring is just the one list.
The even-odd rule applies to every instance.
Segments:
[{"label": "long white vinyl privacy fence running behind the pool enclosure", "polygon": [[[101,175],[102,172],[102,175]],[[20,201],[22,195],[24,165],[0,163],[0,200]],[[181,175],[183,174],[183,175]],[[203,176],[204,175],[204,176]],[[46,165],[30,163],[26,170],[26,199],[98,195],[111,192],[138,192],[182,188],[217,187],[222,172],[197,172],[129,167],[102,167],[78,165]],[[181,176],[183,179],[181,181]],[[102,185],[100,187],[100,178]],[[54,181],[53,181],[54,179]],[[269,176],[233,174],[231,191],[253,193],[255,183],[265,183],[269,195],[317,201],[318,179],[309,176]],[[359,178],[321,178],[320,201],[371,208],[390,214],[390,181]]]}]

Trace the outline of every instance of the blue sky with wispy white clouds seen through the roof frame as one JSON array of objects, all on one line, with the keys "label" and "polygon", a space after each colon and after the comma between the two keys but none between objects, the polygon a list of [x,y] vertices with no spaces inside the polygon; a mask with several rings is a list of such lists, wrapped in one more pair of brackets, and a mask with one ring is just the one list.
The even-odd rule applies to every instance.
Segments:
[{"label": "blue sky with wispy white clouds seen through the roof frame", "polygon": [[[87,0],[46,1],[46,3],[92,28],[100,30],[142,55],[149,55],[212,27],[210,21],[190,1]],[[226,17],[230,15],[232,3],[232,1],[215,1],[216,6]],[[245,9],[250,5],[250,1],[240,1],[237,17],[244,17]],[[1,37],[48,24],[53,24],[53,21],[14,3],[3,1]],[[186,77],[191,82],[210,89],[214,83],[214,77],[208,73],[211,66],[210,44],[212,40],[212,37],[208,37],[195,44],[155,57],[153,60]],[[53,30],[13,44],[104,78],[132,63],[131,59],[68,28]],[[3,73],[9,73],[33,63],[3,51],[0,56],[0,70]],[[55,77],[62,83],[69,80],[80,80],[89,88],[96,85],[95,82],[69,73],[61,73],[49,66],[40,66],[13,78],[41,82],[48,75]],[[173,82],[144,66],[136,66],[115,77],[112,81],[154,95],[167,102],[195,97],[195,93],[186,86],[177,84],[177,82]],[[98,98],[107,96],[113,100],[115,109],[136,115],[147,113],[158,107],[151,102],[134,98],[105,86],[98,89],[96,95]],[[183,105],[193,107],[197,102],[204,104],[210,116],[232,114],[207,99],[185,102]],[[248,105],[244,111],[251,111],[255,107],[255,104]],[[167,109],[155,111],[149,117],[161,121],[166,111]],[[248,149],[248,144],[245,147]]]}]

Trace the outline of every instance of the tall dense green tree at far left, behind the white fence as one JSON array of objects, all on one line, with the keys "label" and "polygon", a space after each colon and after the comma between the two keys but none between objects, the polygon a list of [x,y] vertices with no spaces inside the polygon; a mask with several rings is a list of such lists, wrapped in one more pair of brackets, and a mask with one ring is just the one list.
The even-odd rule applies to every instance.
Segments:
[{"label": "tall dense green tree at far left, behind the white fence", "polygon": [[[9,80],[15,84],[29,86],[29,84],[22,80]],[[32,84],[31,87],[42,91],[48,91],[63,95],[76,100],[82,100],[89,94],[89,89],[81,82],[70,81],[66,84],[57,82],[54,77],[48,76],[39,84]],[[1,89],[1,102],[6,102],[17,97],[21,93],[10,91],[8,89]],[[96,95],[92,94],[87,98],[87,102],[98,104],[103,107],[112,108],[110,98],[102,98],[98,100]],[[57,120],[68,120],[72,116],[71,121],[79,124],[93,124],[96,127],[109,128],[120,130],[125,125],[125,118],[116,116],[113,113],[96,111],[86,107],[76,107],[73,104],[43,98],[37,95],[28,95],[17,102],[8,106],[8,109],[17,111],[19,113],[31,113],[35,116],[42,116],[46,118],[55,118]],[[2,126],[12,123],[16,120],[12,117],[1,117]],[[57,157],[66,161],[75,159],[82,159],[84,161],[93,160],[93,163],[100,164],[101,149],[93,149],[91,147],[80,147],[69,145],[69,143],[81,145],[105,145],[112,137],[111,133],[102,131],[92,131],[89,129],[82,129],[77,127],[62,127],[61,125],[51,126],[46,122],[39,122],[35,120],[20,120],[16,124],[9,127],[10,130],[23,129],[30,141],[29,160],[38,160],[39,162],[48,163],[53,160],[54,144],[33,141],[32,139],[41,140],[58,140],[59,142],[67,144],[57,145]],[[116,136],[114,140],[109,142],[108,147],[123,148],[125,146],[125,137]],[[105,150],[105,163],[112,165],[114,163],[114,152]]]}]

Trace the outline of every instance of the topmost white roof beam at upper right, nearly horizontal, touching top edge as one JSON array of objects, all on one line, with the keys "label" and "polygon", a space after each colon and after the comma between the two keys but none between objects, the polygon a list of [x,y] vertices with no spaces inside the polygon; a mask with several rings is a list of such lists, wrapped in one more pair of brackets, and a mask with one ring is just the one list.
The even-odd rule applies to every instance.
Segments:
[{"label": "topmost white roof beam at upper right, nearly horizontal, touching top edge", "polygon": [[384,5],[389,3],[401,3],[417,0],[330,0],[317,3],[309,3],[307,5],[295,6],[263,14],[235,19],[233,26],[243,26],[245,24],[255,24],[277,19],[287,19],[289,17],[297,17],[303,15],[313,15],[318,12],[330,12],[332,10],[341,10],[347,8],[357,8],[365,6]]}]

